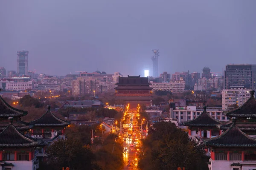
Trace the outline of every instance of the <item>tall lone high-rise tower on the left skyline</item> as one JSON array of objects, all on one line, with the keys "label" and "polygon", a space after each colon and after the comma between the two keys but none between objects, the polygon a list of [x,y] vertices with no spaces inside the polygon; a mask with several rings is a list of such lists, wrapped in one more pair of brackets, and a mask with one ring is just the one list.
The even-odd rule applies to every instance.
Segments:
[{"label": "tall lone high-rise tower on the left skyline", "polygon": [[17,51],[17,74],[28,75],[29,71],[29,51]]}]

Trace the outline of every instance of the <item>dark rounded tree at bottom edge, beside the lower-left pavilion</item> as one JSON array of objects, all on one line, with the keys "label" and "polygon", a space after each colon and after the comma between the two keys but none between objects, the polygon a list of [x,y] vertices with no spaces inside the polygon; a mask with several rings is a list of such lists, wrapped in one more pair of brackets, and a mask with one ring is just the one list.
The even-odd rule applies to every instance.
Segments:
[{"label": "dark rounded tree at bottom edge, beside the lower-left pavilion", "polygon": [[70,167],[70,170],[93,170],[95,156],[89,147],[72,139],[59,139],[47,149],[47,164],[49,170],[60,170]]}]

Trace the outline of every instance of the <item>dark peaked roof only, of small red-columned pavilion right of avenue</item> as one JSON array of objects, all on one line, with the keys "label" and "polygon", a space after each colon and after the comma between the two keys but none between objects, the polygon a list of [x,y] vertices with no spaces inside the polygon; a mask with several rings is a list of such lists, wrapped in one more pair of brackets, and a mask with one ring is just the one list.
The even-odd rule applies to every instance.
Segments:
[{"label": "dark peaked roof only, of small red-columned pavilion right of avenue", "polygon": [[204,106],[204,111],[197,118],[184,122],[186,126],[200,126],[200,127],[216,127],[216,125],[221,124],[220,121],[214,119],[206,111],[206,106]]}]

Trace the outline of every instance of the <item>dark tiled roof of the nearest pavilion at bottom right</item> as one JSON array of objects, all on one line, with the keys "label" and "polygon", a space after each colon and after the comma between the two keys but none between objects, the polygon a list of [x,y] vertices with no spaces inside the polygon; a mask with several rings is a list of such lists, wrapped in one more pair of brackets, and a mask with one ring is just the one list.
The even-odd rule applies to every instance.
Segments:
[{"label": "dark tiled roof of the nearest pavilion at bottom right", "polygon": [[256,147],[256,139],[251,138],[236,126],[236,117],[232,118],[228,130],[206,142],[212,147]]}]

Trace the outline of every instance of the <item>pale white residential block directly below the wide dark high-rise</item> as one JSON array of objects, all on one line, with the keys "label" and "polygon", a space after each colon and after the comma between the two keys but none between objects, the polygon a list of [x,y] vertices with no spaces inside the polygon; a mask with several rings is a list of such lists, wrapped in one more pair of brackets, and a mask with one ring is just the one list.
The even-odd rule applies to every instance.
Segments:
[{"label": "pale white residential block directly below the wide dark high-rise", "polygon": [[222,108],[241,106],[250,98],[250,89],[233,88],[222,90]]}]

